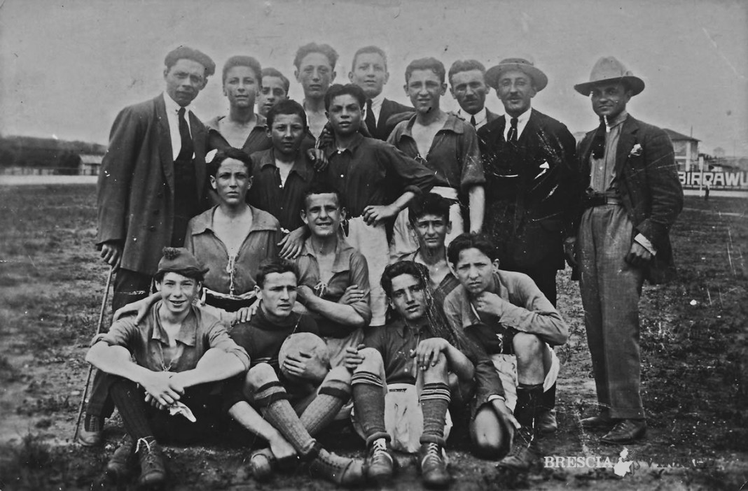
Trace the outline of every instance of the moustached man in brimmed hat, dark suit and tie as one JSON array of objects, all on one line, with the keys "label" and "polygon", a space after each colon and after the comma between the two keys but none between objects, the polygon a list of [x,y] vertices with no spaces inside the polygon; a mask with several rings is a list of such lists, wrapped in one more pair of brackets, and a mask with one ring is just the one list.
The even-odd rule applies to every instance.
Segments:
[{"label": "moustached man in brimmed hat, dark suit and tie", "polygon": [[[498,244],[501,268],[527,274],[555,306],[563,239],[571,234],[579,194],[574,137],[564,124],[531,108],[531,99],[548,84],[531,61],[506,58],[485,80],[506,114],[478,131],[486,179],[483,228]],[[544,365],[548,371],[550,356]],[[542,392],[542,382],[536,380],[533,390]],[[542,431],[556,430],[555,392],[556,384],[542,393],[536,421]]]}]

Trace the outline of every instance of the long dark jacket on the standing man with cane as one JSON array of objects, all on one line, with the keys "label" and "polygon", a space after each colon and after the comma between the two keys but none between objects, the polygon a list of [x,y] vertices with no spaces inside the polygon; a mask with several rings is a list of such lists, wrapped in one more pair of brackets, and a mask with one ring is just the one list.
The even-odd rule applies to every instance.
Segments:
[{"label": "long dark jacket on the standing man with cane", "polygon": [[[206,209],[206,129],[191,112],[195,195]],[[174,158],[162,95],[120,111],[98,182],[96,245],[122,241],[121,267],[155,274],[174,228]]]}]

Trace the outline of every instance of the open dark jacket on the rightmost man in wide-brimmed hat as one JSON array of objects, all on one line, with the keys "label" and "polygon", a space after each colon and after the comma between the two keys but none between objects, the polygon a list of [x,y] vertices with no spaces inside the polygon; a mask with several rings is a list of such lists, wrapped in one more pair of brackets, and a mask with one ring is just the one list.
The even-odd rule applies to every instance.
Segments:
[{"label": "open dark jacket on the rightmost man in wide-brimmed hat", "polygon": [[[592,140],[595,131],[579,143],[583,188],[589,188]],[[640,150],[634,151],[639,145]],[[632,151],[634,154],[632,155]],[[646,271],[652,283],[666,282],[675,275],[669,229],[683,209],[683,188],[672,142],[663,130],[628,116],[623,122],[616,149],[616,183],[634,232],[644,235],[657,248]],[[581,212],[577,212],[581,216]]]}]

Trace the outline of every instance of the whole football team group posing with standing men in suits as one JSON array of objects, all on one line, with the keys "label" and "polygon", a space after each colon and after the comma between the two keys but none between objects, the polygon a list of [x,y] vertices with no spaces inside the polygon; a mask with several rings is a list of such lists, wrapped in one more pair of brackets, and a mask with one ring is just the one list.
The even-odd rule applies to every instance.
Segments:
[{"label": "whole football team group posing with standing men in suits", "polygon": [[[581,424],[606,443],[642,438],[637,300],[645,278],[672,273],[682,206],[672,143],[625,110],[643,81],[615,58],[595,64],[574,87],[601,124],[577,149],[531,108],[548,78],[525,59],[412,61],[408,107],[381,95],[384,51],[359,49],[344,85],[337,58],[298,49],[302,103],[278,70],[229,58],[229,113],[203,124],[190,103],[215,64],[181,46],[165,92],[117,116],[97,237],[117,312],[87,356],[99,370],[79,441],[99,443],[117,407],[126,437],[107,474],[138,457],[154,487],[160,441],[226,424],[266,444],[249,459],[259,480],[301,464],[381,484],[403,451],[446,487],[453,427],[476,455],[527,470],[557,429],[565,259],[598,391]],[[441,109],[448,86],[457,114]],[[485,108],[491,88],[503,116]],[[315,438],[336,419],[365,439],[363,461]]]}]

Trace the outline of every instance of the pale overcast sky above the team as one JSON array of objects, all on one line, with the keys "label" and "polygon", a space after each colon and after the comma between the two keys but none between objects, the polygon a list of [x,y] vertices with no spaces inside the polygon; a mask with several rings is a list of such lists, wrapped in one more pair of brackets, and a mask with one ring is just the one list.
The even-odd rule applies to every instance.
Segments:
[{"label": "pale overcast sky above the team", "polygon": [[[1,0],[0,0],[1,1]],[[533,107],[572,132],[596,126],[573,85],[614,55],[646,89],[635,117],[748,155],[748,1],[741,0],[5,0],[0,7],[0,133],[106,143],[125,105],[163,90],[163,59],[180,44],[212,56],[252,55],[293,80],[310,41],[340,53],[347,81],[356,49],[389,55],[385,95],[407,102],[405,66],[435,56],[449,68],[475,58],[532,57],[549,78]],[[447,109],[457,105],[447,93]],[[488,107],[503,113],[495,93]],[[195,102],[203,120],[227,111],[220,75]]]}]

